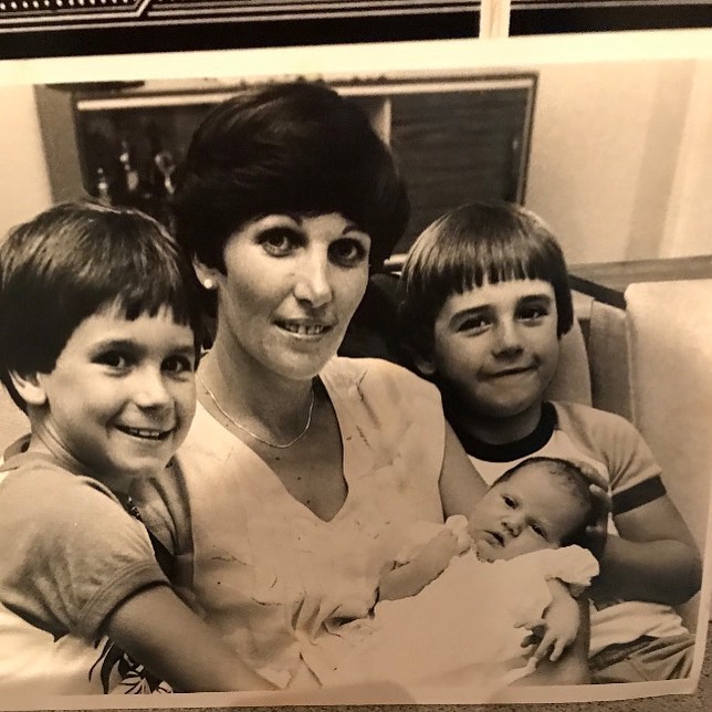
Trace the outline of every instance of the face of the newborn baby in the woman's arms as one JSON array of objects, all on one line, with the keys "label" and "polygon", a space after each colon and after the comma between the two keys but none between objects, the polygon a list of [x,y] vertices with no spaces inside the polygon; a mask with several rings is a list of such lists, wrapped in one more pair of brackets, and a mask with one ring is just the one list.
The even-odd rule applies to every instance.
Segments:
[{"label": "face of the newborn baby in the woman's arms", "polygon": [[545,463],[523,467],[490,488],[470,516],[470,535],[488,561],[557,548],[587,511]]}]

